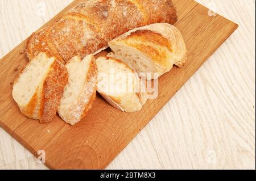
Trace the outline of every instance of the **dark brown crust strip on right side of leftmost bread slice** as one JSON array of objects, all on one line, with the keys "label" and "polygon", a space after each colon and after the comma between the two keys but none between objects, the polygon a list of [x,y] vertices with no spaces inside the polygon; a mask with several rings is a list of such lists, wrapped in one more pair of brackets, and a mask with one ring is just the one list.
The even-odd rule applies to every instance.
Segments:
[{"label": "dark brown crust strip on right side of leftmost bread slice", "polygon": [[55,117],[67,82],[68,71],[61,62],[56,60],[43,84],[43,114],[40,123],[48,123]]}]

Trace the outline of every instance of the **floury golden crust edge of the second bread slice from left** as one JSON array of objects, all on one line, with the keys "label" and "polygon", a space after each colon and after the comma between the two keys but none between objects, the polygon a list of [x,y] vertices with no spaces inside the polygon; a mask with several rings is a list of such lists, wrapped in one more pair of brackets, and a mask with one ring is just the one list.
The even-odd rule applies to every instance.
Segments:
[{"label": "floury golden crust edge of the second bread slice from left", "polygon": [[74,103],[64,106],[60,105],[58,108],[59,116],[66,123],[75,125],[81,121],[87,115],[90,108],[92,108],[93,102],[96,99],[97,75],[97,65],[92,56],[89,71],[86,75],[85,85],[82,88],[79,97]]}]

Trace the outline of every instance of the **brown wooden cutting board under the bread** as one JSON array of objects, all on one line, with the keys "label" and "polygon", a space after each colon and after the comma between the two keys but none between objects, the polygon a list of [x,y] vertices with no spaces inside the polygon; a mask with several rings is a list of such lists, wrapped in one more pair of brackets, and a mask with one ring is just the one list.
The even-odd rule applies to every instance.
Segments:
[{"label": "brown wooden cutting board under the bread", "polygon": [[[72,2],[57,16],[79,2]],[[97,95],[88,116],[74,127],[57,116],[48,124],[27,119],[11,96],[13,81],[27,63],[20,54],[23,41],[0,60],[0,126],[36,157],[38,150],[46,151],[46,165],[51,169],[105,169],[238,27],[195,1],[174,3],[179,16],[175,26],[187,44],[188,61],[159,79],[158,99],[148,100],[142,111],[123,113]]]}]

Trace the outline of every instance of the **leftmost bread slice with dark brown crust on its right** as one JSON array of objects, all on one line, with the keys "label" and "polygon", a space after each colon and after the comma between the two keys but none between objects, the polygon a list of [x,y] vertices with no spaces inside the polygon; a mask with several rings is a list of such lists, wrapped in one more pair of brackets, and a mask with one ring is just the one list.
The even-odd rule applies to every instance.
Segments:
[{"label": "leftmost bread slice with dark brown crust on its right", "polygon": [[22,70],[13,86],[13,98],[23,115],[48,123],[55,117],[68,72],[56,58],[39,53]]}]

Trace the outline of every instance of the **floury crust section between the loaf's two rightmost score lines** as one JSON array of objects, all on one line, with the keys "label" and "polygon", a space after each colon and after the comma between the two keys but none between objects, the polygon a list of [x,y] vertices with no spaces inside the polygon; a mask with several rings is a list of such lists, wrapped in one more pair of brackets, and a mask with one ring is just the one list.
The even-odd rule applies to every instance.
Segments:
[{"label": "floury crust section between the loaf's two rightmost score lines", "polygon": [[117,35],[142,25],[141,11],[127,0],[88,1],[71,11],[83,14],[89,19],[106,42]]}]

